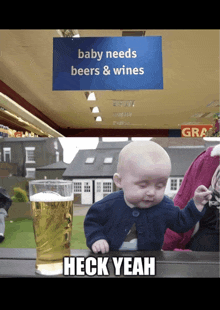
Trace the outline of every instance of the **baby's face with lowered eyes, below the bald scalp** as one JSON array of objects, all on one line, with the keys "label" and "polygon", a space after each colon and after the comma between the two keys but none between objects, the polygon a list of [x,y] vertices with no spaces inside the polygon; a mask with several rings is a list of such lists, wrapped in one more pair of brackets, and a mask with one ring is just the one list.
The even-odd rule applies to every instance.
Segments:
[{"label": "baby's face with lowered eyes, below the bald scalp", "polygon": [[125,199],[138,208],[150,208],[163,200],[170,164],[128,167],[121,179]]}]

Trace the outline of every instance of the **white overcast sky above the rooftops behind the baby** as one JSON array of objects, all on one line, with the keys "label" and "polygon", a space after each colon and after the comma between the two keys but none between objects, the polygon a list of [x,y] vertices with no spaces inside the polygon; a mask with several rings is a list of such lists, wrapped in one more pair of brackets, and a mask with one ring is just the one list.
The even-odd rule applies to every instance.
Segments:
[{"label": "white overcast sky above the rooftops behind the baby", "polygon": [[[150,140],[151,138],[132,138],[136,140]],[[103,141],[126,141],[128,138],[103,138]],[[71,163],[78,150],[96,149],[99,138],[59,138],[63,147],[63,161]]]}]

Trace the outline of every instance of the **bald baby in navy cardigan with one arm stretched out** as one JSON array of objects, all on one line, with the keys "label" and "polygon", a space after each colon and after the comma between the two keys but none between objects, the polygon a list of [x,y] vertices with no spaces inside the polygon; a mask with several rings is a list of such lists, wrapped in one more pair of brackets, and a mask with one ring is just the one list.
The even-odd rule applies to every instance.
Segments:
[{"label": "bald baby in navy cardigan with one arm stretched out", "polygon": [[167,228],[191,229],[204,215],[211,191],[199,186],[192,200],[180,210],[164,196],[171,173],[167,152],[157,143],[131,142],[119,154],[113,180],[122,190],[96,202],[89,209],[84,230],[94,253],[109,250],[158,251]]}]

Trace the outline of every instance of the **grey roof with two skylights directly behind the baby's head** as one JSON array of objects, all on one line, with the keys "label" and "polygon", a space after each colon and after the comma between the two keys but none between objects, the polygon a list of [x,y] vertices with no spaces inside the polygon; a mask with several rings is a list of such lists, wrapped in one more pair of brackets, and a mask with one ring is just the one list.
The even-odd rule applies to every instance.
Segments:
[{"label": "grey roof with two skylights directly behind the baby's head", "polygon": [[[130,142],[130,141],[129,141]],[[95,150],[79,150],[72,163],[66,169],[66,178],[102,178],[112,177],[117,171],[118,156],[122,147],[129,142],[99,142]],[[122,146],[122,143],[124,145]],[[119,145],[120,144],[120,145]],[[118,148],[117,148],[118,146]],[[120,146],[120,147],[119,147]],[[171,146],[164,148],[171,158],[171,176],[183,176],[195,158],[206,148],[205,146]],[[88,157],[94,162],[86,163]],[[112,157],[111,164],[104,164],[106,157]]]}]

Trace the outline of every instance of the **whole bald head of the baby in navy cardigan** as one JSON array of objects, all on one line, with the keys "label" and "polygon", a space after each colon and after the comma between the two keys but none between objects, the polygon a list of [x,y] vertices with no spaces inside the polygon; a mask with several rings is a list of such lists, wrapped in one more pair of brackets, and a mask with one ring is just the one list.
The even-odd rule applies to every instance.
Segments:
[{"label": "whole bald head of the baby in navy cardigan", "polygon": [[122,188],[127,205],[150,208],[164,197],[171,172],[170,157],[152,141],[131,142],[119,154],[114,183]]}]

